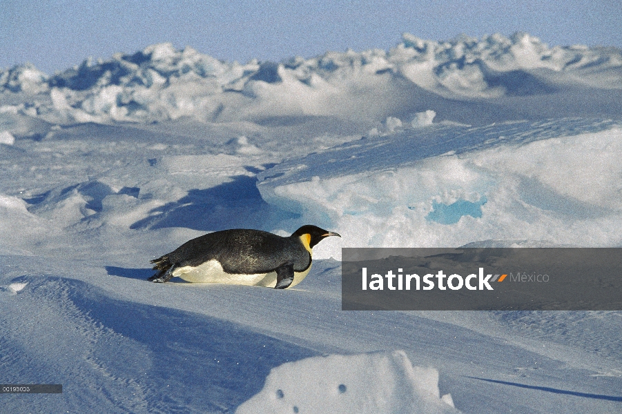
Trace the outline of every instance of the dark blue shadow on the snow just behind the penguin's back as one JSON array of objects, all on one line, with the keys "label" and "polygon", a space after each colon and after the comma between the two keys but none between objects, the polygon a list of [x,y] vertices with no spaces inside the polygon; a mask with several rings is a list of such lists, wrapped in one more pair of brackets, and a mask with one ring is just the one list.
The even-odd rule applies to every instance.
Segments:
[{"label": "dark blue shadow on the snow just behind the penguin's back", "polygon": [[217,231],[229,228],[271,230],[294,213],[271,206],[262,199],[255,177],[238,175],[218,186],[193,189],[181,199],[150,211],[150,215],[130,226],[133,229],[185,227]]}]

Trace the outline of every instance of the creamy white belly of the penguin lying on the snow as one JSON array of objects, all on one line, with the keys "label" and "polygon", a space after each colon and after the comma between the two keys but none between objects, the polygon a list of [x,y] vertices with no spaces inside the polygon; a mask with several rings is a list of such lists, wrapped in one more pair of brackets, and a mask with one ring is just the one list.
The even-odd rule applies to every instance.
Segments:
[{"label": "creamy white belly of the penguin lying on the snow", "polygon": [[[294,272],[291,286],[295,286],[307,277],[311,266],[300,273]],[[173,270],[173,276],[193,283],[224,283],[242,284],[246,286],[266,286],[273,288],[276,285],[276,272],[255,273],[253,275],[234,275],[226,273],[221,264],[215,259],[202,263],[199,266],[184,266]]]}]

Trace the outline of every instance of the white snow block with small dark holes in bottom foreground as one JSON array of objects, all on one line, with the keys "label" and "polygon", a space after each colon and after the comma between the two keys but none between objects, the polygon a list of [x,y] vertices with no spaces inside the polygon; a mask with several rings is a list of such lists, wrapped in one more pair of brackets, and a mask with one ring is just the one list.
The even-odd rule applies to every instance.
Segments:
[{"label": "white snow block with small dark holes in bottom foreground", "polygon": [[412,366],[403,351],[329,355],[273,368],[237,414],[459,413],[440,397],[438,371]]}]

